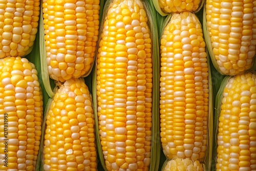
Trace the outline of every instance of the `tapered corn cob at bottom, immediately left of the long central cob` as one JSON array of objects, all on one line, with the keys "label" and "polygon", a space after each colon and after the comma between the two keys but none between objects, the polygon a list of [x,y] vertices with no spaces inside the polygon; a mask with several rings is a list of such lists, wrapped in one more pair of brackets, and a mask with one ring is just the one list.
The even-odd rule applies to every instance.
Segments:
[{"label": "tapered corn cob at bottom, immediately left of the long central cob", "polygon": [[82,78],[72,78],[60,86],[46,124],[46,171],[97,170],[92,99]]}]

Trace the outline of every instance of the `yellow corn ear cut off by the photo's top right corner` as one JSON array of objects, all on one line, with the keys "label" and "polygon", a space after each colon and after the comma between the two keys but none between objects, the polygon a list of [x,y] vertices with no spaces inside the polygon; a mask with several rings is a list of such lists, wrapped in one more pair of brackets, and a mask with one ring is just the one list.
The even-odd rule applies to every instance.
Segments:
[{"label": "yellow corn ear cut off by the photo's top right corner", "polygon": [[256,46],[256,2],[206,0],[204,36],[215,68],[226,75],[249,70]]}]

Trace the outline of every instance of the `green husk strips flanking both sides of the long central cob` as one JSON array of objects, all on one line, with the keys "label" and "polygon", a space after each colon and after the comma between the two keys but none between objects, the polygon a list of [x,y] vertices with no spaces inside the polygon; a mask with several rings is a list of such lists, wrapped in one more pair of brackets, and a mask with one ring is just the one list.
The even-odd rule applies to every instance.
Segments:
[{"label": "green husk strips flanking both sides of the long central cob", "polygon": [[[109,10],[109,6],[112,0],[106,1],[102,13],[100,34],[103,29],[103,22],[106,14]],[[152,144],[151,144],[151,165],[150,170],[155,171],[159,167],[159,158],[160,156],[160,138],[159,138],[159,44],[158,44],[158,28],[156,27],[157,16],[154,11],[153,2],[147,2],[146,0],[141,1],[144,5],[145,11],[148,16],[148,23],[151,30],[152,42],[153,42],[153,109],[152,109]],[[99,35],[100,35],[99,34]],[[100,40],[100,38],[99,38]],[[98,48],[97,48],[98,49]],[[97,52],[96,52],[97,55]],[[95,113],[95,126],[96,126],[96,141],[97,141],[97,151],[100,163],[104,170],[107,170],[105,167],[104,156],[100,143],[99,136],[99,126],[98,126],[98,114],[97,114],[97,71],[96,71],[97,62],[95,62],[92,80],[92,92],[93,92],[93,104],[94,104],[94,113]],[[154,157],[153,157],[154,156]]]}]

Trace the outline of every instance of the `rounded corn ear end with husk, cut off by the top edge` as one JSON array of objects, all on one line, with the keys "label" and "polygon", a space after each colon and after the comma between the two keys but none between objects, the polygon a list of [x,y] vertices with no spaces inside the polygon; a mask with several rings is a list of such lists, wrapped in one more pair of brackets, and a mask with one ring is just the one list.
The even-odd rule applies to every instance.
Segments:
[{"label": "rounded corn ear end with husk, cut off by the top edge", "polygon": [[154,6],[160,15],[169,13],[197,12],[203,6],[204,0],[153,0]]}]

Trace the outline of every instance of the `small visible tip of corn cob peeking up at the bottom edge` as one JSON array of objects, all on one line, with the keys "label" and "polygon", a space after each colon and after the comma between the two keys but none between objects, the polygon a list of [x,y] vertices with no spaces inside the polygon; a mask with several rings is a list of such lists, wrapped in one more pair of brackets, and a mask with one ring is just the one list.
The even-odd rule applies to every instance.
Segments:
[{"label": "small visible tip of corn cob peeking up at the bottom edge", "polygon": [[163,171],[203,171],[203,167],[198,160],[176,158],[168,161]]}]

